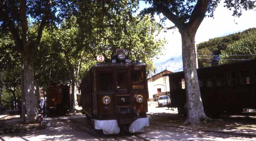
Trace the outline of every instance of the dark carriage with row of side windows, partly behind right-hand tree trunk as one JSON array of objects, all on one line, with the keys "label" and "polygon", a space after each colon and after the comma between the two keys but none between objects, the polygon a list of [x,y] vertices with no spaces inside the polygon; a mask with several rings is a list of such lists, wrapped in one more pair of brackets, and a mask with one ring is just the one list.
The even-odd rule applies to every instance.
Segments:
[{"label": "dark carriage with row of side windows, partly behind right-hand tree trunk", "polygon": [[[256,109],[256,60],[242,61],[197,69],[205,113],[239,113]],[[166,74],[170,84],[170,107],[186,114],[186,92],[183,72]]]}]

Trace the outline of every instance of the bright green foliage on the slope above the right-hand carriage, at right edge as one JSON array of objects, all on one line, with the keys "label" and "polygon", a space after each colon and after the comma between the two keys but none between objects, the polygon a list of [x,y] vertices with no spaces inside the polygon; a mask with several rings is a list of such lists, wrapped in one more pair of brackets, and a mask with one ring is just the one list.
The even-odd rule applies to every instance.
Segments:
[{"label": "bright green foliage on the slope above the right-hand carriage, at right edge", "polygon": [[[229,56],[229,55],[251,55],[256,54],[256,29],[246,30],[246,35],[235,41],[221,51],[220,59],[255,59],[256,56]],[[235,62],[233,60],[220,60],[220,64]]]}]

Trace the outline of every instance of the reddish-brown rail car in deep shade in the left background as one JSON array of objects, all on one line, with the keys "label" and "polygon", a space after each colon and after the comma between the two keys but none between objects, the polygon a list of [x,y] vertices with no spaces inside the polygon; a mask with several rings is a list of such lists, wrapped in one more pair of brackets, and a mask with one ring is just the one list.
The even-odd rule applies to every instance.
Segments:
[{"label": "reddish-brown rail car in deep shade in the left background", "polygon": [[71,108],[71,95],[69,86],[52,85],[46,91],[46,107],[49,112],[57,112],[56,114],[66,114]]}]

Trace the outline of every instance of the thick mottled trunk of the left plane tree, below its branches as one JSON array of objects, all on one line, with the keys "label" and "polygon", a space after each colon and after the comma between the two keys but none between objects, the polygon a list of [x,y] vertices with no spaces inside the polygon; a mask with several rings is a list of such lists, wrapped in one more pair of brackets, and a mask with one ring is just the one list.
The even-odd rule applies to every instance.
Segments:
[{"label": "thick mottled trunk of the left plane tree, below its branches", "polygon": [[[27,48],[27,47],[26,47]],[[31,48],[30,48],[31,49]],[[27,117],[26,122],[35,122],[38,118],[37,101],[35,100],[34,90],[34,71],[33,71],[33,51],[25,51],[22,55],[24,65],[24,90],[26,97]]]}]

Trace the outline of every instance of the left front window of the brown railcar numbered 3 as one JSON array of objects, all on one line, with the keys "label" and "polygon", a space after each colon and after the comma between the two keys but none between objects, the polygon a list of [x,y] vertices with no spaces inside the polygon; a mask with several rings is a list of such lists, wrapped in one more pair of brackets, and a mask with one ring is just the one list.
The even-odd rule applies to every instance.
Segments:
[{"label": "left front window of the brown railcar numbered 3", "polygon": [[112,89],[112,73],[100,73],[100,90],[111,90]]}]

